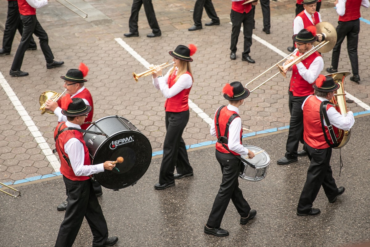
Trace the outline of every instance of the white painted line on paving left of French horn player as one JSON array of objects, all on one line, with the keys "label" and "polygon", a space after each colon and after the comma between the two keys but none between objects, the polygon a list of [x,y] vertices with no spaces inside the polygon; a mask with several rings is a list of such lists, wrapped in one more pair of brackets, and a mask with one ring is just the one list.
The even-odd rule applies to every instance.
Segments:
[{"label": "white painted line on paving left of French horn player", "polygon": [[3,74],[0,72],[0,84],[3,87],[5,93],[8,95],[11,103],[14,105],[14,108],[18,111],[18,114],[21,116],[24,124],[26,124],[28,130],[31,132],[32,136],[35,138],[36,143],[43,151],[44,155],[46,156],[47,160],[54,168],[54,171],[59,171],[60,163],[57,157],[51,151],[51,148],[47,144],[46,140],[38,130],[35,123],[32,121],[30,115],[28,115],[27,111],[22,106],[22,103],[19,101],[18,97],[14,93],[13,89],[11,89],[9,83],[4,78]]}]

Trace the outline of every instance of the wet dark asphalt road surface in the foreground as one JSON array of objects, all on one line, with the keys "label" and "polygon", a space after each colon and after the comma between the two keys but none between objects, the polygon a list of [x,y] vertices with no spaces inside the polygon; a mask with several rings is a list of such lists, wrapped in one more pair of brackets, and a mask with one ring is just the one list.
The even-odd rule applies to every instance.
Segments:
[{"label": "wet dark asphalt road surface in the foreground", "polygon": [[[119,191],[103,188],[99,198],[110,236],[122,246],[320,246],[337,247],[370,240],[369,218],[369,118],[356,118],[349,143],[341,150],[344,166],[339,177],[339,150],[332,155],[337,186],[346,191],[335,203],[328,203],[320,190],[314,207],[317,216],[296,216],[309,166],[308,157],[279,166],[285,153],[287,132],[243,140],[264,148],[270,155],[268,175],[258,182],[239,179],[243,195],[257,215],[248,224],[239,224],[235,207],[229,204],[221,224],[228,237],[203,233],[214,197],[221,182],[215,148],[189,151],[194,177],[176,180],[176,186],[154,190],[161,157],[152,160],[147,173],[133,187]],[[54,246],[63,211],[56,206],[65,199],[63,179],[39,181],[17,187],[22,196],[0,194],[0,246]],[[91,246],[87,222],[78,233],[75,247]]]}]

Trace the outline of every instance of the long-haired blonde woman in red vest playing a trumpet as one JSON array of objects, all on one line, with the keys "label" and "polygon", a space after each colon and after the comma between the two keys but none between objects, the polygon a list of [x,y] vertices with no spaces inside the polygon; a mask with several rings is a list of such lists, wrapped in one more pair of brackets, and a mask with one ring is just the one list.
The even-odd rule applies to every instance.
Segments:
[{"label": "long-haired blonde woman in red vest playing a trumpet", "polygon": [[[163,190],[175,186],[178,178],[193,176],[193,168],[189,163],[188,153],[182,132],[189,121],[188,98],[193,85],[193,77],[190,69],[191,56],[196,47],[179,45],[169,54],[174,57],[174,67],[165,76],[162,69],[155,66],[152,74],[153,85],[162,91],[166,98],[164,105],[166,110],[166,137],[163,144],[163,159],[159,171],[159,182],[154,185],[157,190]],[[174,174],[176,166],[177,173]]]}]

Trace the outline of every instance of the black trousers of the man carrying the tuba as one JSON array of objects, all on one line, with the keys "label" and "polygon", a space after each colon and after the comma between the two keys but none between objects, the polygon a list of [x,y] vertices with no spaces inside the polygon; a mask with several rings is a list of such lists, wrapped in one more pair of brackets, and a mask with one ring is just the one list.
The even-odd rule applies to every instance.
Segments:
[{"label": "black trousers of the man carrying the tuba", "polygon": [[311,163],[297,207],[297,212],[303,214],[308,213],[312,208],[312,203],[321,186],[329,200],[338,194],[338,187],[335,184],[332,167],[330,166],[332,148],[316,149],[305,144],[305,149]]}]

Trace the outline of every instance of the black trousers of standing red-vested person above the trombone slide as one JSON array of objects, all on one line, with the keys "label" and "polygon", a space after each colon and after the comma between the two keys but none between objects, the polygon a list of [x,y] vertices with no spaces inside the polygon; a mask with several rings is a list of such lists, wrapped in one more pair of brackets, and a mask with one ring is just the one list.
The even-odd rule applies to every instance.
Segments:
[{"label": "black trousers of standing red-vested person above the trombone slide", "polygon": [[253,14],[252,11],[248,13],[239,13],[231,10],[230,19],[232,23],[231,30],[231,52],[236,52],[236,44],[238,44],[240,28],[243,24],[243,34],[244,34],[244,51],[242,53],[243,57],[248,57],[250,53],[250,46],[252,46],[252,33],[253,33]]}]

